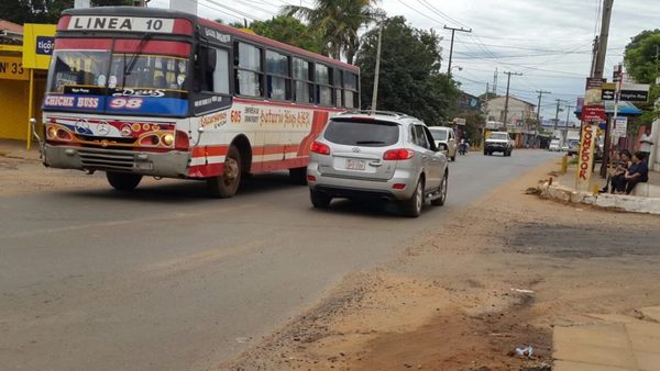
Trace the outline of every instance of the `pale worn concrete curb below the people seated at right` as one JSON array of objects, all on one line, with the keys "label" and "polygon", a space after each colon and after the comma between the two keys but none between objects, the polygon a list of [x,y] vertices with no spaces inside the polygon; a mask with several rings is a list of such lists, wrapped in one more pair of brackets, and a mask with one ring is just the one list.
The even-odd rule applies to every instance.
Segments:
[{"label": "pale worn concrete curb below the people seated at right", "polygon": [[635,195],[622,195],[575,191],[561,184],[550,184],[549,181],[539,182],[537,186],[539,196],[543,199],[558,200],[566,203],[581,203],[601,209],[624,211],[628,213],[660,215],[660,199],[640,198]]}]

